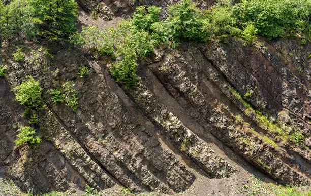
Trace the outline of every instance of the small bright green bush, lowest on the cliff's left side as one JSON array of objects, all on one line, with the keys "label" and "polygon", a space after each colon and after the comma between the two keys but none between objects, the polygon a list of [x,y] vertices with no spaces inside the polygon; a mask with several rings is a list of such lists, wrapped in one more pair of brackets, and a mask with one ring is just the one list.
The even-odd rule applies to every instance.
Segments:
[{"label": "small bright green bush, lowest on the cliff's left side", "polygon": [[38,146],[41,143],[41,139],[39,136],[35,136],[35,134],[35,129],[28,126],[21,127],[17,135],[19,139],[15,140],[16,145],[22,146],[23,144],[28,144],[33,147]]}]

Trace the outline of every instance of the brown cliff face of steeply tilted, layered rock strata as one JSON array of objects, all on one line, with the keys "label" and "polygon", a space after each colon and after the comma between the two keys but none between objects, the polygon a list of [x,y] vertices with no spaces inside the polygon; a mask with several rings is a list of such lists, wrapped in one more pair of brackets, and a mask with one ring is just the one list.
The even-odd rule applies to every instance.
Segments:
[{"label": "brown cliff face of steeply tilted, layered rock strata", "polygon": [[[98,5],[78,3],[87,11]],[[165,8],[173,1],[104,3],[121,16],[137,5]],[[28,55],[18,63],[5,49],[0,174],[33,193],[73,192],[89,185],[98,190],[123,186],[135,193],[203,195],[218,190],[243,195],[252,193],[240,192],[251,174],[310,185],[311,44],[259,43],[210,41],[159,48],[140,60],[140,80],[133,91],[114,81],[106,57],[65,48],[53,59],[40,54],[34,62]],[[77,72],[83,66],[90,73],[81,78]],[[18,127],[27,125],[24,108],[14,101],[14,87],[27,75],[40,81],[46,105],[40,114],[44,139],[35,150],[14,144]],[[53,104],[48,93],[67,80],[80,92],[74,112]],[[302,145],[289,141],[297,130],[304,134]]]}]

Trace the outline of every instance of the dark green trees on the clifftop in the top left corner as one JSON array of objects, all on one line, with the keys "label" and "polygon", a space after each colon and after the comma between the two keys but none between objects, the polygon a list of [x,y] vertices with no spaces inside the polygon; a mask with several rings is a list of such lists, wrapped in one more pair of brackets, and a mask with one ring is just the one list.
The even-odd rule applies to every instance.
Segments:
[{"label": "dark green trees on the clifftop in the top left corner", "polygon": [[0,44],[31,39],[66,40],[76,31],[77,3],[74,0],[12,0],[0,2]]}]

